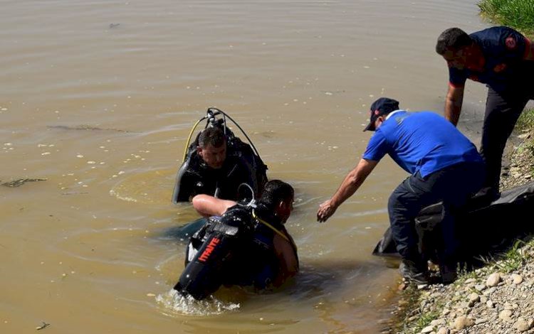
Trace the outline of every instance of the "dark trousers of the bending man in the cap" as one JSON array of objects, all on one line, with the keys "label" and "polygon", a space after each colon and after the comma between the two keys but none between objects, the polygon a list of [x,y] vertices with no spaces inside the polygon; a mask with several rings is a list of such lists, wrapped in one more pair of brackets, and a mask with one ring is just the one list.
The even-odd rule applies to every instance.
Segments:
[{"label": "dark trousers of the bending man in the cap", "polygon": [[444,202],[446,212],[441,222],[442,255],[448,260],[454,259],[458,247],[454,210],[481,188],[483,180],[483,163],[457,163],[425,178],[417,173],[404,180],[389,196],[387,205],[393,239],[402,259],[422,263],[414,220],[422,208],[440,201]]}]

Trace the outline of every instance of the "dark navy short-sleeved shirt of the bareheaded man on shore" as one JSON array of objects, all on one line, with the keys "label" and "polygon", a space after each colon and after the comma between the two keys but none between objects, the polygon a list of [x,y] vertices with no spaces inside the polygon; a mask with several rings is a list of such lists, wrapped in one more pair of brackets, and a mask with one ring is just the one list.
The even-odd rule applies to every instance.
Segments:
[{"label": "dark navy short-sleeved shirt of the bareheaded man on shore", "polygon": [[469,36],[482,50],[483,69],[449,68],[449,82],[454,87],[462,87],[467,79],[471,79],[499,92],[510,85],[521,85],[525,81],[522,78],[534,75],[534,61],[524,60],[530,49],[530,41],[518,31],[499,26]]}]

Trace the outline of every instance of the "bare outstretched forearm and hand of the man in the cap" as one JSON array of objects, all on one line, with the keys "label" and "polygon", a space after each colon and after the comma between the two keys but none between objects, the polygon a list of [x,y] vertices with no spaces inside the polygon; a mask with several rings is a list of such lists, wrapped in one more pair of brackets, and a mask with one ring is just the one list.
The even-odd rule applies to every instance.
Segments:
[{"label": "bare outstretched forearm and hand of the man in the cap", "polygon": [[317,221],[325,222],[328,220],[328,218],[334,214],[337,207],[345,202],[347,198],[350,198],[350,196],[360,188],[360,185],[362,185],[365,178],[369,176],[377,164],[378,161],[361,159],[360,163],[358,163],[357,166],[345,176],[345,180],[341,183],[340,188],[337,188],[337,191],[332,198],[319,205]]}]

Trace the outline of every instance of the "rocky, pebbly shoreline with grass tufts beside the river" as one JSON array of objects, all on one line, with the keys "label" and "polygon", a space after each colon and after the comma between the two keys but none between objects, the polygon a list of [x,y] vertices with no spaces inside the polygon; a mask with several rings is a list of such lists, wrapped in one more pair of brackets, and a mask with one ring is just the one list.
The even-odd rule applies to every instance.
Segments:
[{"label": "rocky, pebbly shoreline with grass tufts beside the river", "polygon": [[[534,130],[511,138],[501,190],[534,179]],[[444,286],[399,286],[394,323],[382,333],[534,333],[534,241]]]}]

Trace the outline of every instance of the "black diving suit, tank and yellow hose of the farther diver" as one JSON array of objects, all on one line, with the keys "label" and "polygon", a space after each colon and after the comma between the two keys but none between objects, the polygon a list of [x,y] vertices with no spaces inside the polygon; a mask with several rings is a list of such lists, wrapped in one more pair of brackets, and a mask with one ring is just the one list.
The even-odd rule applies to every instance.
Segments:
[{"label": "black diving suit, tank and yellow hose of the farther diver", "polygon": [[[226,119],[229,119],[241,130],[249,144],[244,143],[234,135],[234,132],[227,126]],[[198,155],[199,134],[190,143],[194,130],[204,120],[206,121],[204,129],[209,126],[217,126],[223,130],[226,136],[227,153],[223,171],[215,171],[207,167]],[[237,200],[239,199],[237,188],[241,183],[248,184],[253,189],[254,195],[258,196],[263,185],[268,181],[266,171],[266,164],[261,160],[256,147],[241,129],[241,126],[225,112],[216,108],[209,108],[206,116],[201,117],[194,124],[187,139],[182,166],[177,172],[174,183],[172,202],[187,202],[192,196],[201,193],[226,200]]]}]

